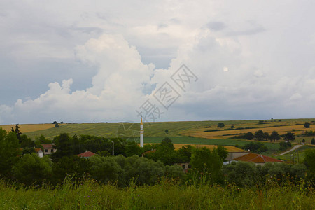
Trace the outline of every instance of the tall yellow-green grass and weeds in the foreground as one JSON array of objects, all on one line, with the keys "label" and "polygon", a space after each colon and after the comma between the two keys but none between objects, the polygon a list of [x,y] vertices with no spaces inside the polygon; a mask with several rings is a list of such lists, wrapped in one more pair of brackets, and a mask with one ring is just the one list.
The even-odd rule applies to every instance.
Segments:
[{"label": "tall yellow-green grass and weeds in the foreground", "polygon": [[314,192],[271,181],[261,188],[180,186],[162,180],[155,186],[117,188],[96,181],[72,183],[57,189],[16,188],[0,182],[0,209],[312,209]]}]

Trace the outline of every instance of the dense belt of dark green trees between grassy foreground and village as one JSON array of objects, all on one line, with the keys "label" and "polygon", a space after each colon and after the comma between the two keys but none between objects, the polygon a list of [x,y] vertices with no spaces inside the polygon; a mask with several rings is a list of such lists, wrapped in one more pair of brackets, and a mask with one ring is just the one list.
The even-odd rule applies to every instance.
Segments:
[{"label": "dense belt of dark green trees between grassy foreground and village", "polygon": [[[1,178],[18,181],[26,185],[33,185],[34,183],[40,185],[44,181],[56,185],[62,183],[67,175],[83,179],[89,174],[93,179],[102,183],[117,182],[118,186],[127,186],[132,179],[135,179],[139,185],[151,185],[158,181],[161,176],[172,176],[183,182],[196,181],[200,180],[197,179],[198,177],[206,177],[205,180],[209,183],[224,184],[225,179],[233,181],[233,177],[237,180],[237,177],[241,176],[252,177],[253,181],[260,177],[259,180],[263,182],[263,176],[274,173],[276,170],[276,165],[272,165],[268,170],[265,169],[265,166],[262,167],[264,170],[259,167],[252,169],[253,165],[244,167],[244,165],[237,164],[235,168],[230,168],[234,165],[223,167],[223,161],[228,155],[225,148],[218,146],[211,151],[209,148],[183,146],[176,151],[172,140],[167,138],[163,139],[161,144],[146,145],[144,150],[148,153],[145,153],[145,157],[141,158],[134,153],[127,153],[126,148],[130,143],[123,139],[117,139],[120,155],[115,154],[115,156],[105,152],[111,150],[109,144],[105,144],[109,148],[105,146],[100,151],[104,143],[109,143],[109,139],[88,138],[87,136],[69,137],[68,134],[60,134],[55,137],[54,141],[57,152],[50,157],[47,155],[44,158],[39,158],[35,153],[21,155],[21,151],[18,149],[20,148],[19,140],[15,132],[7,133],[0,128]],[[99,147],[99,155],[94,155],[90,159],[78,158],[75,153],[76,150],[80,152],[81,149],[76,147],[78,142],[83,143],[83,148],[96,150]],[[121,148],[119,144],[121,144]],[[283,176],[289,173],[292,176],[297,175],[303,178],[306,167],[308,167],[310,174],[308,179],[314,179],[314,158],[315,153],[307,153],[305,165],[297,169],[290,166],[290,169],[280,170],[279,173]],[[174,162],[190,162],[192,169],[188,174],[184,174],[183,169],[179,165],[174,165]],[[241,170],[239,168],[244,168],[244,171],[239,172]],[[248,181],[248,183],[253,181]],[[241,179],[239,185],[244,185]]]}]

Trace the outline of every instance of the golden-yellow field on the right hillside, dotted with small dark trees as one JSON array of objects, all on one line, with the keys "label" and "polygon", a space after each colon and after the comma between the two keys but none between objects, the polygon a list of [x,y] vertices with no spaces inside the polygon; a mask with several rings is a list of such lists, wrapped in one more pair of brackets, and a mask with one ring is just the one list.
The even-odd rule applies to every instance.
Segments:
[{"label": "golden-yellow field on the right hillside, dotted with small dark trees", "polygon": [[[212,128],[212,130],[216,129]],[[228,139],[233,135],[239,133],[252,132],[255,134],[256,131],[262,130],[263,132],[268,132],[271,134],[274,130],[279,132],[279,134],[285,134],[286,132],[293,132],[295,134],[302,134],[307,130],[312,130],[311,128],[305,128],[303,125],[288,125],[288,126],[280,126],[280,127],[259,127],[253,129],[243,129],[243,130],[219,130],[216,132],[204,132],[205,130],[211,130],[207,127],[200,127],[197,129],[186,130],[185,132],[181,132],[182,135],[190,135],[193,137],[207,138],[207,139]],[[223,136],[227,135],[228,136]]]}]

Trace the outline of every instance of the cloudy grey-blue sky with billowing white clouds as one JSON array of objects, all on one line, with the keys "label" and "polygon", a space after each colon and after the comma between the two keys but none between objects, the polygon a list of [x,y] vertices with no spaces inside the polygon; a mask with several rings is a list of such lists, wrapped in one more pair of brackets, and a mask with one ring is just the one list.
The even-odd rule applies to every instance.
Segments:
[{"label": "cloudy grey-blue sky with billowing white clouds", "polygon": [[314,8],[0,0],[0,124],[314,118]]}]

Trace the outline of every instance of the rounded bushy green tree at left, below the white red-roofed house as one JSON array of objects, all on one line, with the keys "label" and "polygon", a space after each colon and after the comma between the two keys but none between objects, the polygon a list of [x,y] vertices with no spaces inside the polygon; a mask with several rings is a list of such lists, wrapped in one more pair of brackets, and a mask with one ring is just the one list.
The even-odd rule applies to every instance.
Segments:
[{"label": "rounded bushy green tree at left, below the white red-roofed house", "polygon": [[13,167],[13,174],[27,186],[33,186],[34,183],[41,185],[52,175],[52,162],[47,156],[39,158],[36,153],[25,154]]}]

